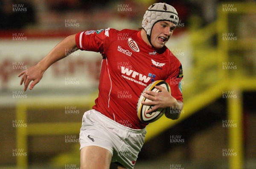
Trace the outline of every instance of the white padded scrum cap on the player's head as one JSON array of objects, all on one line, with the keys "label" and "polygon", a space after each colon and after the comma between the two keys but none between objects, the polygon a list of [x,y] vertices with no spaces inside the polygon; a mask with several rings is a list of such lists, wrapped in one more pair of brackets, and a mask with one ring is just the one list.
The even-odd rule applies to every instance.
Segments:
[{"label": "white padded scrum cap on the player's head", "polygon": [[151,36],[154,24],[159,21],[169,21],[177,24],[179,17],[176,9],[166,3],[154,3],[149,6],[142,21],[142,28],[146,31],[148,38]]}]

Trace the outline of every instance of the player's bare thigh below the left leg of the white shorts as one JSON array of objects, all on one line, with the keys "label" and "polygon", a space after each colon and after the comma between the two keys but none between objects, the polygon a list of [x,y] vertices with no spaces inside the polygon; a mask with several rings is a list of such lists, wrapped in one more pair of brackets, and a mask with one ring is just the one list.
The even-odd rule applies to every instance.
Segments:
[{"label": "player's bare thigh below the left leg of the white shorts", "polygon": [[99,146],[86,146],[80,151],[80,169],[109,169],[111,152]]}]

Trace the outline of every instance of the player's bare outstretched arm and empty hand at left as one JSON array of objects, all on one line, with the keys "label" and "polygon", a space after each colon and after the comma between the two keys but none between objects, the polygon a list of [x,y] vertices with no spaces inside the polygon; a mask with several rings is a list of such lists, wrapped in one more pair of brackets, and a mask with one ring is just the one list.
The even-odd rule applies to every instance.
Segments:
[{"label": "player's bare outstretched arm and empty hand at left", "polygon": [[[68,51],[76,51],[76,34],[70,35],[66,37],[64,40],[62,40],[58,45],[56,45],[52,51],[47,54],[40,62],[38,62],[37,65],[32,66],[31,68],[28,68],[27,70],[24,70],[21,72],[18,77],[22,76],[20,80],[20,85],[24,83],[24,91],[26,91],[27,87],[29,86],[29,83],[31,85],[29,86],[29,89],[32,90],[33,87],[40,82],[40,80],[43,77],[44,72],[49,68],[53,63],[57,62],[60,59],[63,59],[66,57],[67,49],[73,49]],[[76,50],[74,50],[76,49]]]}]

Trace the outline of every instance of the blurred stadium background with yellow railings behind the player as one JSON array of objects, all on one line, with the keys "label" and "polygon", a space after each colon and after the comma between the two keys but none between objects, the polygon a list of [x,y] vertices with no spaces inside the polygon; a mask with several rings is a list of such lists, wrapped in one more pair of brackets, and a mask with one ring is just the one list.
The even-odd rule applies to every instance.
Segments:
[{"label": "blurred stadium background with yellow railings behind the player", "polygon": [[[0,0],[1,169],[79,169],[81,118],[97,96],[101,55],[71,54],[33,91],[23,92],[17,75],[70,34],[138,29],[156,2]],[[148,125],[135,169],[255,169],[255,1],[165,2],[180,17],[167,46],[183,65],[184,109],[177,121]]]}]

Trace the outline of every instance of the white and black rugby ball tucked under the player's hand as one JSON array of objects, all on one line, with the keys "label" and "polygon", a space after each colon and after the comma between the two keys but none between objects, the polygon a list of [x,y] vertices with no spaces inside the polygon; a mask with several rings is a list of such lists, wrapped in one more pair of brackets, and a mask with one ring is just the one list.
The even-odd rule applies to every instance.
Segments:
[{"label": "white and black rugby ball tucked under the player's hand", "polygon": [[164,88],[166,88],[168,90],[169,93],[171,93],[169,84],[167,82],[163,81],[163,80],[157,80],[157,81],[149,84],[143,90],[143,92],[140,94],[140,97],[139,97],[138,102],[137,102],[137,115],[138,115],[138,118],[140,119],[140,121],[142,121],[143,123],[152,123],[152,122],[156,121],[166,111],[166,109],[159,108],[159,109],[155,110],[154,112],[146,114],[146,111],[150,110],[154,106],[147,106],[147,105],[141,104],[142,101],[151,101],[151,100],[146,99],[145,97],[143,97],[143,93],[146,90],[151,90],[153,92],[161,92],[161,90],[155,88],[155,86],[159,86],[159,85],[163,86]]}]

